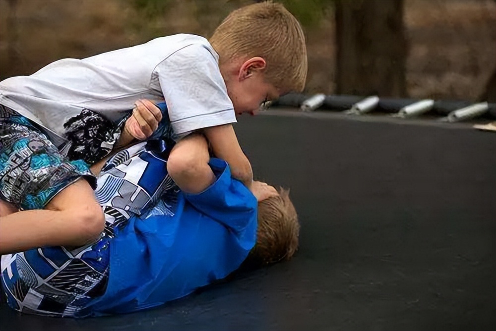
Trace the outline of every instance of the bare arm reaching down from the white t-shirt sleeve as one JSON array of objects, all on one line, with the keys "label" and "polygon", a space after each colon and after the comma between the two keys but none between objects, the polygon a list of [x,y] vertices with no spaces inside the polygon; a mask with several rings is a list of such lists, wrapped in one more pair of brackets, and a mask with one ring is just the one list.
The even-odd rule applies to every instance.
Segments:
[{"label": "bare arm reaching down from the white t-shirt sleeve", "polygon": [[253,171],[241,149],[233,126],[225,124],[204,128],[202,131],[210,142],[215,157],[225,160],[231,168],[231,175],[241,180],[251,190]]}]

